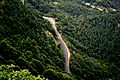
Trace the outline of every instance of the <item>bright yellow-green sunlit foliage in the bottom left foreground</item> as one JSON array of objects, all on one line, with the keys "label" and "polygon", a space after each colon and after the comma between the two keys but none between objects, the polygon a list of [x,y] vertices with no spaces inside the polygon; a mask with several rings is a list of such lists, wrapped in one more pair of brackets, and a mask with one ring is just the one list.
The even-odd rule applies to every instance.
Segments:
[{"label": "bright yellow-green sunlit foliage in the bottom left foreground", "polygon": [[45,78],[40,78],[40,76],[33,76],[27,70],[14,70],[16,68],[15,65],[1,65],[0,66],[0,79],[1,80],[46,80]]}]

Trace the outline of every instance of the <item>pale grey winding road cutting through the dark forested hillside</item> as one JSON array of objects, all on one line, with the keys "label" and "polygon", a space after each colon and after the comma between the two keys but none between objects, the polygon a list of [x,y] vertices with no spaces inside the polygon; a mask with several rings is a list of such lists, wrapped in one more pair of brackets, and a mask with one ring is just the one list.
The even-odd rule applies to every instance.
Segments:
[{"label": "pale grey winding road cutting through the dark forested hillside", "polygon": [[50,17],[45,17],[45,16],[43,16],[43,18],[44,18],[45,20],[48,20],[48,21],[50,22],[50,24],[52,25],[52,28],[54,29],[55,34],[56,34],[57,37],[58,37],[58,41],[60,42],[61,47],[63,48],[63,51],[64,51],[65,71],[66,71],[67,73],[71,73],[71,72],[70,72],[70,69],[69,69],[70,51],[69,51],[66,43],[65,43],[64,40],[62,39],[60,33],[57,31],[56,24],[55,24],[55,19],[54,19],[54,18],[50,18]]}]

